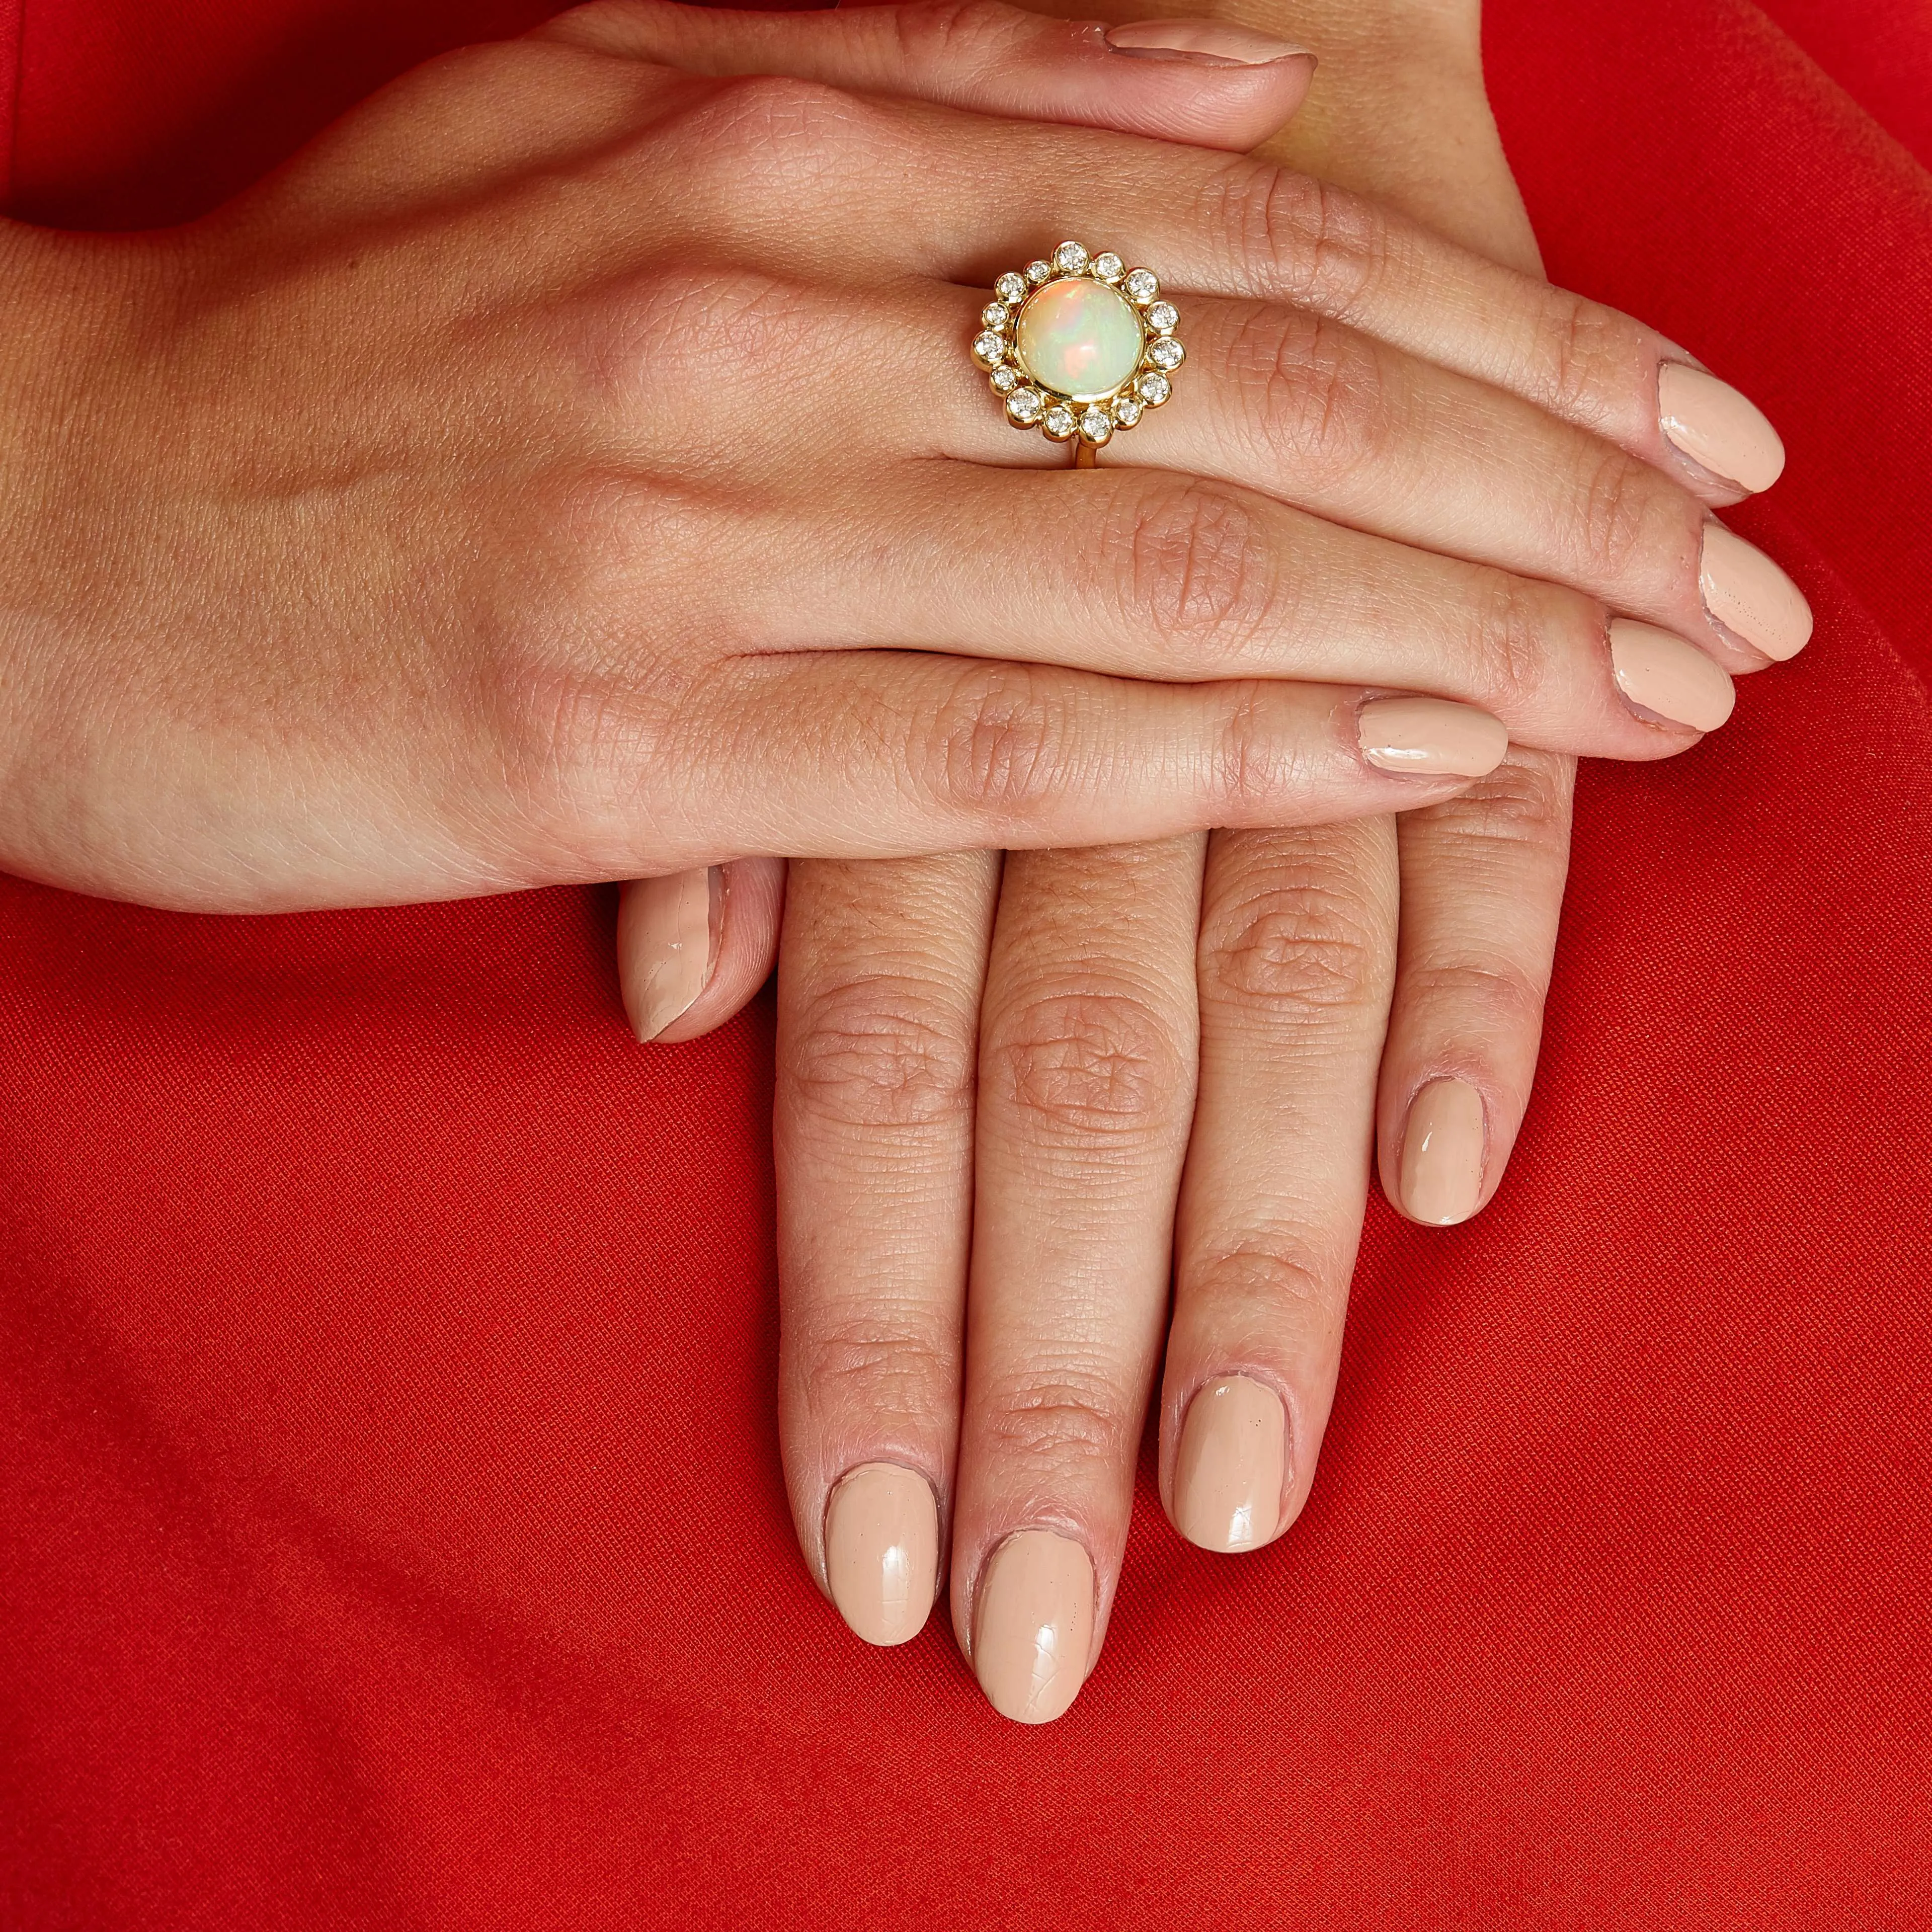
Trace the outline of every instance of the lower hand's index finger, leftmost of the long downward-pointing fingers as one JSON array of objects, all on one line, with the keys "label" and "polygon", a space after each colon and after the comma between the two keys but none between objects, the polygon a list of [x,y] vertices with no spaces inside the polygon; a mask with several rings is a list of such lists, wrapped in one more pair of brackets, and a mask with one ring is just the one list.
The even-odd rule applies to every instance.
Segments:
[{"label": "lower hand's index finger, leftmost of the long downward-pointing fingers", "polygon": [[806,1563],[916,1636],[958,1441],[980,987],[999,858],[792,867],[779,974],[779,1432]]}]

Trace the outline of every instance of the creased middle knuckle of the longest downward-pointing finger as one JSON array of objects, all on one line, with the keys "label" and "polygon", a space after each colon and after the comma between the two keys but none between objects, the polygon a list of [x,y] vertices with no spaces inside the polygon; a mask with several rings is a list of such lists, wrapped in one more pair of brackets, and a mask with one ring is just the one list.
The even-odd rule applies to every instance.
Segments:
[{"label": "creased middle knuckle of the longest downward-pointing finger", "polygon": [[1192,1051],[1136,993],[1045,993],[999,1014],[987,1072],[1057,1136],[1165,1126],[1192,1092]]}]

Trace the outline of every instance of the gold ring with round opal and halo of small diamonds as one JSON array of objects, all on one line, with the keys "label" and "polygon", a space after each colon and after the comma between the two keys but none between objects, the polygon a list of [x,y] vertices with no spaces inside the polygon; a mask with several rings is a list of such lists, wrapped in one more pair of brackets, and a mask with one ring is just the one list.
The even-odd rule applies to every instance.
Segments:
[{"label": "gold ring with round opal and halo of small diamonds", "polygon": [[1117,431],[1175,392],[1173,375],[1186,361],[1179,323],[1151,269],[1063,242],[1051,261],[993,284],[972,359],[1014,429],[1072,442],[1076,468],[1088,468]]}]

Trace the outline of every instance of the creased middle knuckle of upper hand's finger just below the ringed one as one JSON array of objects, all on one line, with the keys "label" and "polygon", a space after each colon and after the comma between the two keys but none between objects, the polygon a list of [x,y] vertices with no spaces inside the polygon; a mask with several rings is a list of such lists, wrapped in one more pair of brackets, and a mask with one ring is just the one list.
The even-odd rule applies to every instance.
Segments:
[{"label": "creased middle knuckle of upper hand's finger just below the ringed one", "polygon": [[1208,483],[1136,497],[1124,543],[1126,620],[1169,639],[1190,665],[1238,659],[1269,626],[1275,568],[1262,522]]}]

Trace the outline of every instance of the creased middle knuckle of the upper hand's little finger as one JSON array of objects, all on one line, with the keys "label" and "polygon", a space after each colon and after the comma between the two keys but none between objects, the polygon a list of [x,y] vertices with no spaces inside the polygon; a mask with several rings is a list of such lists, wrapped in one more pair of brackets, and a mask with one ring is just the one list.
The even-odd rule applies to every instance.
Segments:
[{"label": "creased middle knuckle of the upper hand's little finger", "polygon": [[918,724],[914,773],[947,804],[1024,819],[1070,777],[1066,705],[1034,668],[972,665]]}]

